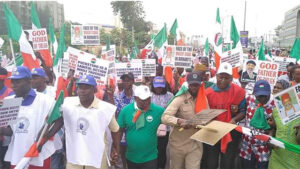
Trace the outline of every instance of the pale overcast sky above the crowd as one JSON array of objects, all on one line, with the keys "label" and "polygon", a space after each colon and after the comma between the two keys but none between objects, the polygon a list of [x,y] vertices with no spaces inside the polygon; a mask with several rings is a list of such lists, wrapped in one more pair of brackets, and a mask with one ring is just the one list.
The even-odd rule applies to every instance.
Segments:
[{"label": "pale overcast sky above the crowd", "polygon": [[[64,4],[65,19],[82,24],[114,24],[114,15],[108,0],[58,0]],[[246,0],[246,28],[249,36],[274,34],[274,28],[284,20],[285,12],[300,5],[300,0]],[[230,19],[234,17],[237,30],[243,30],[245,0],[143,0],[145,20],[168,30],[175,18],[178,29],[187,36],[203,35],[213,39],[216,10],[229,34]],[[226,35],[225,35],[226,36]]]}]

